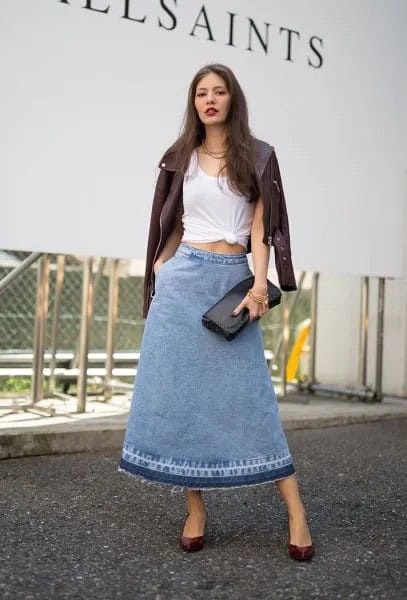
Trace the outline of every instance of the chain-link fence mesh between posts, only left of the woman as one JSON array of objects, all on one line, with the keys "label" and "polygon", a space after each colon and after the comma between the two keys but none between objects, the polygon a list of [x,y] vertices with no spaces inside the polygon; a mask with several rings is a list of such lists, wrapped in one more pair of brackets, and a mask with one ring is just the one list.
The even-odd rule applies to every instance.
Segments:
[{"label": "chain-link fence mesh between posts, only left of the woman", "polygon": [[[51,321],[55,300],[56,269],[52,261],[49,280],[49,307],[45,347],[49,347]],[[32,350],[35,300],[37,286],[35,263],[10,285],[0,296],[0,352],[4,350]],[[0,280],[12,267],[0,266]],[[101,350],[106,346],[106,324],[108,303],[108,277],[97,277],[94,296],[94,316],[91,328],[90,350]],[[116,330],[116,348],[133,350],[139,348],[143,333],[142,277],[121,277],[119,280],[119,316]],[[75,350],[80,325],[82,268],[67,265],[58,327],[58,349]]]}]

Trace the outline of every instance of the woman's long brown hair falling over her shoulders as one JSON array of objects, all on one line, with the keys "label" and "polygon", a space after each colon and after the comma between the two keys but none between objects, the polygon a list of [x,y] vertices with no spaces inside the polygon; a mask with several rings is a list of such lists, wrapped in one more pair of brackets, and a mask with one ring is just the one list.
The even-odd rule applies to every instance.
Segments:
[{"label": "woman's long brown hair falling over her shoulders", "polygon": [[176,152],[182,172],[185,173],[193,150],[205,138],[205,125],[197,114],[194,101],[198,83],[209,73],[216,73],[223,79],[231,96],[229,112],[225,121],[227,128],[225,165],[219,175],[223,169],[227,168],[230,187],[235,192],[245,195],[249,202],[254,202],[260,191],[255,174],[255,147],[249,128],[247,102],[234,73],[226,65],[208,64],[195,74],[189,86],[188,102],[180,135],[168,150]]}]

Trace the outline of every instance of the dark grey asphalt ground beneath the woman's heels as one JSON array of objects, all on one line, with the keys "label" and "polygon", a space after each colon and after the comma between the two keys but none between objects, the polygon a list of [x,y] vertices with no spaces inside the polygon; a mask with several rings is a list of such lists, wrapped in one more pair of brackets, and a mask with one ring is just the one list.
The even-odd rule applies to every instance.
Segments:
[{"label": "dark grey asphalt ground beneath the woman's heels", "polygon": [[316,555],[287,554],[274,484],[204,492],[204,550],[178,545],[185,493],[117,472],[119,450],[0,462],[0,598],[404,599],[407,420],[287,431]]}]

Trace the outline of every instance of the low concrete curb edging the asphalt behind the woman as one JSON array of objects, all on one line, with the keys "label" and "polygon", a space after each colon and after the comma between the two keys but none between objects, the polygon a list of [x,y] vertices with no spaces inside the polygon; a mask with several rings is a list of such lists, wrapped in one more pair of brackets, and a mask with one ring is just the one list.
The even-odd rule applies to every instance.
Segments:
[{"label": "low concrete curb edging the asphalt behind the woman", "polygon": [[[310,417],[308,419],[283,418],[282,423],[285,431],[293,431],[403,418],[407,418],[407,414],[343,415],[336,417]],[[82,428],[77,431],[0,434],[0,460],[22,458],[24,456],[120,450],[124,434],[125,427],[99,430]]]}]

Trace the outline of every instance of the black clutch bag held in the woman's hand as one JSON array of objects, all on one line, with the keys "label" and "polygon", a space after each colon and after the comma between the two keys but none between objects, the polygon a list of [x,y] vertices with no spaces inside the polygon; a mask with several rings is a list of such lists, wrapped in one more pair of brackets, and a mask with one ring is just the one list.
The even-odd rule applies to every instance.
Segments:
[{"label": "black clutch bag held in the woman's hand", "polygon": [[[249,311],[246,307],[238,315],[232,315],[232,310],[240,304],[247,292],[254,284],[254,275],[239,281],[202,315],[202,324],[208,329],[219,333],[227,340],[233,340],[239,331],[249,323]],[[267,279],[267,292],[269,296],[269,308],[277,306],[281,301],[281,291]]]}]

